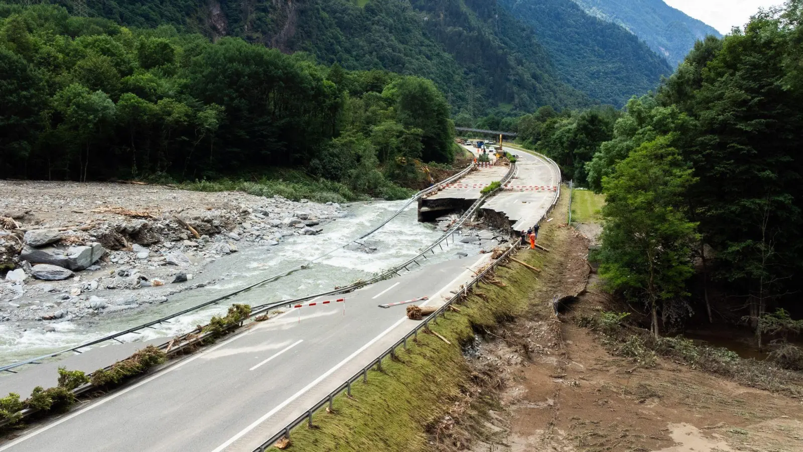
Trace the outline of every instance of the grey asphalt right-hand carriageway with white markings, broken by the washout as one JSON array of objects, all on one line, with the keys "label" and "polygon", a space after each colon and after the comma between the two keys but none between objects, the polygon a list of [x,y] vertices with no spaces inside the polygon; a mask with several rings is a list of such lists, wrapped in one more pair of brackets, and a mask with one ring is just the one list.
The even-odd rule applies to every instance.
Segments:
[{"label": "grey asphalt right-hand carriageway with white markings, broken by the washout", "polygon": [[[543,159],[517,154],[519,179],[512,185],[559,183],[556,171]],[[494,167],[474,175],[491,182],[506,171],[507,167]],[[466,195],[478,197],[479,190],[463,189]],[[553,196],[553,191],[502,191],[485,208],[527,228],[548,209]],[[251,452],[417,324],[405,317],[407,305],[388,309],[378,305],[423,296],[430,299],[417,304],[442,303],[451,290],[471,280],[470,268],[479,268],[489,258],[487,254],[454,258],[346,294],[345,302],[288,308],[23,431],[0,443],[0,452]],[[99,350],[94,356],[72,360],[86,360],[91,367],[106,353],[128,353],[111,347]],[[22,375],[18,378],[25,379]],[[34,384],[36,374],[28,375],[27,384]]]}]

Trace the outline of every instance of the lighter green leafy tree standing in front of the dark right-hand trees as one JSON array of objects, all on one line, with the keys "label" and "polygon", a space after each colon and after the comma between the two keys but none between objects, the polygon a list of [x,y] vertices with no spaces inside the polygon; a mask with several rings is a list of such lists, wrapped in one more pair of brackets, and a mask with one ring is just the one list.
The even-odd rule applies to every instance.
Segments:
[{"label": "lighter green leafy tree standing in front of the dark right-hand trees", "polygon": [[600,276],[612,290],[643,302],[650,329],[683,306],[693,273],[696,224],[683,211],[683,194],[695,179],[667,138],[644,143],[603,179],[606,204]]}]

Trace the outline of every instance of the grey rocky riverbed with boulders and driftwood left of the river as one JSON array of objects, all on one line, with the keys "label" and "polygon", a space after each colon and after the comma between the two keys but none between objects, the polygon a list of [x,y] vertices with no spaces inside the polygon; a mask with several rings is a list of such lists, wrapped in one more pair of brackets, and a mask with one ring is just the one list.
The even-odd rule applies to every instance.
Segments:
[{"label": "grey rocky riverbed with boulders and driftwood left of the river", "polygon": [[0,322],[167,302],[213,284],[199,276],[221,257],[345,215],[336,203],[150,185],[0,181],[0,192]]}]

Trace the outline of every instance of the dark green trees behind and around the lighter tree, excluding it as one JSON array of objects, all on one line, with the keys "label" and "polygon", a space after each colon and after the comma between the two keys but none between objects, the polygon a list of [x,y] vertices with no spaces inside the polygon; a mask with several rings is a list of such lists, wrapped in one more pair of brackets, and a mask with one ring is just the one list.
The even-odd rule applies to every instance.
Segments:
[{"label": "dark green trees behind and around the lighter tree, excluding it", "polygon": [[[720,281],[734,309],[748,308],[759,345],[759,318],[768,309],[803,313],[794,295],[803,277],[801,20],[803,2],[792,0],[756,14],[744,31],[697,43],[654,96],[630,101],[613,140],[587,166],[592,187],[608,193],[611,203],[610,192],[633,177],[622,165],[658,143],[677,150],[679,168],[690,170],[694,181],[670,204],[683,217],[678,222],[698,224],[698,243],[683,253],[686,261],[699,259],[699,299],[708,302],[709,275]],[[654,187],[654,195],[676,180]],[[604,237],[620,233],[617,224],[629,215],[609,209]]]}]

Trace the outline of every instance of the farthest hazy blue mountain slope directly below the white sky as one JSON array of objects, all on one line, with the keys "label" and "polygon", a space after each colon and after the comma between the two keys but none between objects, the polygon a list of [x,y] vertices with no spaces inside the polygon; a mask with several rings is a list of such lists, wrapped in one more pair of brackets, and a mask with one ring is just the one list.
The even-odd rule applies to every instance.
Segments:
[{"label": "farthest hazy blue mountain slope directly below the white sky", "polygon": [[722,37],[714,27],[691,18],[662,0],[574,0],[587,13],[632,31],[676,68],[706,35]]}]

